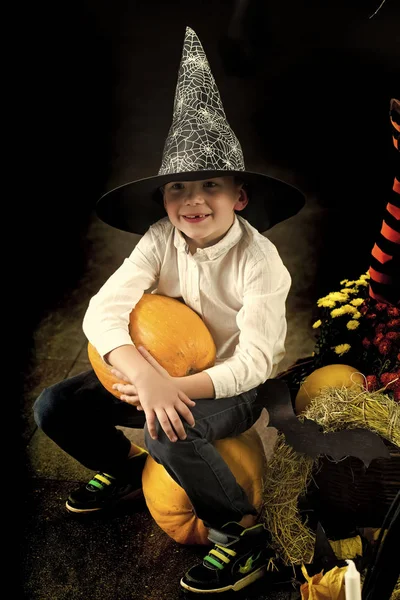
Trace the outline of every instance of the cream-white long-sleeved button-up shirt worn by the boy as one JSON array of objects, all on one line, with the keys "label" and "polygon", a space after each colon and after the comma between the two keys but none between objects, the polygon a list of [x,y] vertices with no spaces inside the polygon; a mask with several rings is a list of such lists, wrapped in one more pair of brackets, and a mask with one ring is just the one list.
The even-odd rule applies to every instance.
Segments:
[{"label": "cream-white long-sleeved button-up shirt worn by the boy", "polygon": [[165,217],[92,297],[83,331],[104,357],[133,345],[129,314],[143,293],[183,298],[203,319],[217,348],[215,366],[205,369],[215,397],[235,396],[277,372],[285,353],[290,285],[274,244],[242,217],[235,216],[219,242],[193,255]]}]

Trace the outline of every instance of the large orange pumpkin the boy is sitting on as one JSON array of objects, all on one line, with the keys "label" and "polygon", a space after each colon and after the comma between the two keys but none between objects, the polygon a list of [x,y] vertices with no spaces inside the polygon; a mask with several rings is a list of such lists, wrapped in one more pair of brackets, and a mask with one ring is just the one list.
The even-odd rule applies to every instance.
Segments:
[{"label": "large orange pumpkin the boy is sitting on", "polygon": [[[262,505],[266,468],[264,446],[253,427],[238,437],[214,443],[249,501],[257,510]],[[148,456],[142,474],[143,494],[150,514],[173,540],[180,544],[209,544],[208,530],[193,512],[186,492],[164,467]]]}]

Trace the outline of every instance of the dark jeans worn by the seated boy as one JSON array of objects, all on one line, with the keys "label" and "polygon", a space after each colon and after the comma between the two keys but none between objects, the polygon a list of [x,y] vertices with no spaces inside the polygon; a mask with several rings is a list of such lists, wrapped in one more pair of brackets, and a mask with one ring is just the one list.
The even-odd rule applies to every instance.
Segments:
[{"label": "dark jeans worn by the seated boy", "polygon": [[213,442],[249,429],[262,409],[256,389],[232,398],[196,400],[191,408],[195,426],[183,421],[185,440],[171,442],[161,427],[153,440],[144,413],[107,392],[90,370],[45,389],[34,415],[43,432],[82,465],[116,476],[124,474],[130,441],[115,426],[145,427],[150,455],[186,491],[196,515],[220,527],[257,513]]}]

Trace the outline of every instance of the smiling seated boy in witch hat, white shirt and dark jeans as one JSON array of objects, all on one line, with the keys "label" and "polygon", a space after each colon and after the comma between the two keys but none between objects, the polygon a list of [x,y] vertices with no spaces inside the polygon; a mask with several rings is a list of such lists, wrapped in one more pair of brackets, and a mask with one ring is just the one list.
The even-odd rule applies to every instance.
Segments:
[{"label": "smiling seated boy in witch hat, white shirt and dark jeans", "polygon": [[[240,589],[265,572],[267,532],[213,442],[255,423],[263,408],[257,388],[283,357],[290,276],[259,231],[303,202],[295,188],[245,170],[203,48],[187,28],[158,175],[112,190],[97,206],[106,223],[144,234],[91,299],[83,322],[89,341],[126,382],[115,385],[120,400],[89,371],[44,390],[35,419],[98,471],[71,493],[70,512],[102,510],[139,493],[147,451],[165,467],[216,544],[181,580],[194,592]],[[129,314],[150,290],[183,298],[203,318],[217,347],[215,366],[173,378],[135,348]],[[147,451],[116,425],[145,426]]]}]

